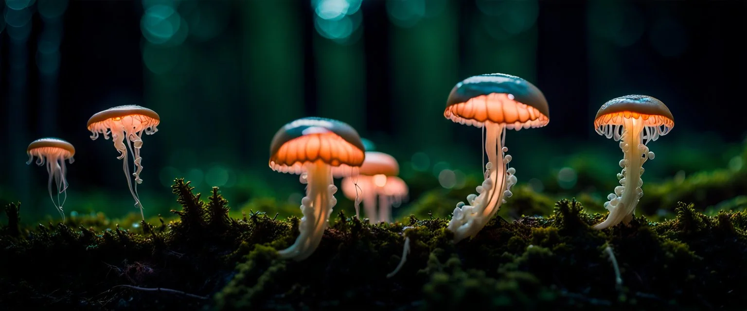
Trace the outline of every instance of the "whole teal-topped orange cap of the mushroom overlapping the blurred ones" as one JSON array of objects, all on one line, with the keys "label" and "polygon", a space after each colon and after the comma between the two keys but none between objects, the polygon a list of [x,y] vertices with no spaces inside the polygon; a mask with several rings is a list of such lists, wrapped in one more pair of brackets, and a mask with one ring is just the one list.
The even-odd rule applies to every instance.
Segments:
[{"label": "whole teal-topped orange cap of the mushroom overlapping the blurred ones", "polygon": [[303,165],[361,166],[365,147],[358,132],[334,119],[307,117],[280,128],[270,143],[270,168],[301,174]]}]

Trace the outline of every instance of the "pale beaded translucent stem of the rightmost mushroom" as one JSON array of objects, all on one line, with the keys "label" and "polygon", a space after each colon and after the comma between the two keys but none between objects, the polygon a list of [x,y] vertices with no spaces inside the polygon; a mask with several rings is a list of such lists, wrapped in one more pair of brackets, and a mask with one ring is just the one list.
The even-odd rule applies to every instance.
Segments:
[{"label": "pale beaded translucent stem of the rightmost mushroom", "polygon": [[[623,159],[620,161],[622,172],[618,174],[620,186],[616,186],[614,193],[607,196],[610,201],[604,203],[604,207],[610,210],[610,214],[604,222],[596,224],[595,229],[612,227],[620,222],[627,224],[633,219],[636,205],[643,196],[641,189],[643,163],[649,158],[654,158],[654,153],[648,151],[644,139],[648,142],[657,135],[657,130],[645,127],[644,120],[640,118],[624,119],[622,128],[611,127],[608,131],[613,131],[610,134],[616,140],[620,140],[620,148],[623,152]],[[620,131],[622,133],[619,133]]]}]

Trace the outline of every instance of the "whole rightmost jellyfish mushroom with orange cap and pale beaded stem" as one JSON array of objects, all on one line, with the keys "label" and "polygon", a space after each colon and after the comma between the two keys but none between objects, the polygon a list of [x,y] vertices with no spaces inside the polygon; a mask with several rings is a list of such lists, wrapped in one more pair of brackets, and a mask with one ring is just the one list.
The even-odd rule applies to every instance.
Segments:
[{"label": "whole rightmost jellyfish mushroom with orange cap and pale beaded stem", "polygon": [[617,177],[621,186],[607,196],[604,207],[610,215],[594,227],[604,229],[633,219],[638,201],[643,196],[643,163],[654,159],[646,146],[651,140],[666,135],[675,127],[675,118],[663,102],[646,95],[627,95],[607,101],[594,120],[597,133],[620,141],[623,159]]}]

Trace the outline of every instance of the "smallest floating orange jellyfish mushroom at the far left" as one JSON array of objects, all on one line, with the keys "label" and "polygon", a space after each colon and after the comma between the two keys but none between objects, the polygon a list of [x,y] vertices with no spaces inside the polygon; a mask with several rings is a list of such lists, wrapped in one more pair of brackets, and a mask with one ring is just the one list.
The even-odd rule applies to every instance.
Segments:
[{"label": "smallest floating orange jellyfish mushroom at the far left", "polygon": [[[55,204],[60,216],[62,216],[63,222],[65,221],[65,213],[62,210],[62,206],[67,200],[67,169],[65,168],[65,160],[68,160],[70,164],[75,161],[72,156],[75,155],[75,148],[72,144],[58,138],[42,138],[31,142],[26,148],[26,154],[28,154],[28,162],[31,164],[34,157],[37,157],[37,165],[42,166],[46,163],[47,173],[49,174],[49,181],[47,182],[47,189],[49,189],[49,198],[52,199],[52,204]],[[55,195],[52,195],[52,179],[55,180],[57,185],[57,201],[55,201]],[[60,194],[63,194],[63,199],[60,201]]]}]

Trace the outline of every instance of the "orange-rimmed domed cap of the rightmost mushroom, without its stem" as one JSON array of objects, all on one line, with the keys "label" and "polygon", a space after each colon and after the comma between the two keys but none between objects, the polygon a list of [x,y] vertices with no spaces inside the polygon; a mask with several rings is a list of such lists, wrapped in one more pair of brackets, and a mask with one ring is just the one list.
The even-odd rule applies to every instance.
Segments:
[{"label": "orange-rimmed domed cap of the rightmost mushroom, without its stem", "polygon": [[594,118],[594,127],[605,125],[623,125],[624,119],[642,118],[645,126],[675,127],[675,118],[666,105],[647,95],[625,95],[607,101],[599,108]]}]

